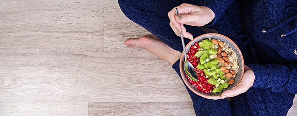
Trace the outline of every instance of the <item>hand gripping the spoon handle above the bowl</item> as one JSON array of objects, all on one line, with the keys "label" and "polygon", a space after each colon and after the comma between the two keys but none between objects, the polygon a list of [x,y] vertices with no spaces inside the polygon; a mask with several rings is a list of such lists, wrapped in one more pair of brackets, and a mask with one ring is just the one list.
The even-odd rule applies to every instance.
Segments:
[{"label": "hand gripping the spoon handle above the bowl", "polygon": [[[178,8],[178,15],[175,14],[176,8]],[[214,19],[214,12],[205,6],[183,3],[169,11],[168,17],[170,19],[169,25],[176,35],[181,36],[180,30],[182,29],[183,37],[193,40],[193,35],[187,32],[182,25],[204,26]]]}]

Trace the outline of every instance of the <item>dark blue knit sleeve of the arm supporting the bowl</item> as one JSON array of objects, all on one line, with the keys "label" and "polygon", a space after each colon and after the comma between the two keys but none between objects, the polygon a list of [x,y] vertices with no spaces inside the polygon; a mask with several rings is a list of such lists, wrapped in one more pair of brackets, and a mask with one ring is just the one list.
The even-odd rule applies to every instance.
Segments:
[{"label": "dark blue knit sleeve of the arm supporting the bowl", "polygon": [[255,74],[252,87],[271,88],[273,92],[297,94],[297,65],[249,64]]}]

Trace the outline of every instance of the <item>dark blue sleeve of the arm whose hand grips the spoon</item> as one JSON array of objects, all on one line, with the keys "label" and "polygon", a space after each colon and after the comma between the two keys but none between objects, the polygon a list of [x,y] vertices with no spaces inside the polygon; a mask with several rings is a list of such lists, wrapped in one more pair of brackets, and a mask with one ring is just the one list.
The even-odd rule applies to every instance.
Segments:
[{"label": "dark blue sleeve of the arm whose hand grips the spoon", "polygon": [[206,6],[214,12],[213,21],[205,26],[213,26],[233,1],[234,0],[204,0],[200,6]]}]

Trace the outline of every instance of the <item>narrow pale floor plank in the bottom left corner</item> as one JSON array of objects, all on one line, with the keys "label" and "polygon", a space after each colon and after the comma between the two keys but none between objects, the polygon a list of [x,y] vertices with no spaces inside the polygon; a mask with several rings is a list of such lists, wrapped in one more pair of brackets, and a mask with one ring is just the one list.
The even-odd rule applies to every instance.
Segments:
[{"label": "narrow pale floor plank in the bottom left corner", "polygon": [[0,116],[88,116],[88,102],[0,102]]}]

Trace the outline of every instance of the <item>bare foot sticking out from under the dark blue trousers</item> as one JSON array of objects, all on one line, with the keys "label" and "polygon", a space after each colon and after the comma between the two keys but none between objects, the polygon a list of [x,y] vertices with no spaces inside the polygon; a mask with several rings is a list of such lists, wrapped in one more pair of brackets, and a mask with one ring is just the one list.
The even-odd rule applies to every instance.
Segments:
[{"label": "bare foot sticking out from under the dark blue trousers", "polygon": [[181,58],[181,52],[172,49],[154,35],[130,38],[124,44],[127,47],[142,47],[157,57],[169,62],[171,65]]}]

